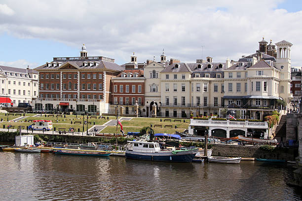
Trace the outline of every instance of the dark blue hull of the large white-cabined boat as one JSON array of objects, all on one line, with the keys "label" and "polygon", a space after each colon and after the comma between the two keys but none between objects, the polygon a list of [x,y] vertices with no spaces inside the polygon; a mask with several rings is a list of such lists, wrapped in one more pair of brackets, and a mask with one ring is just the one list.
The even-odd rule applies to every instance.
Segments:
[{"label": "dark blue hull of the large white-cabined boat", "polygon": [[150,152],[135,152],[132,150],[126,150],[125,155],[126,158],[135,159],[135,160],[189,163],[192,162],[197,151],[198,148],[177,152],[176,154],[173,154],[172,151],[160,151],[157,153],[150,153]]}]

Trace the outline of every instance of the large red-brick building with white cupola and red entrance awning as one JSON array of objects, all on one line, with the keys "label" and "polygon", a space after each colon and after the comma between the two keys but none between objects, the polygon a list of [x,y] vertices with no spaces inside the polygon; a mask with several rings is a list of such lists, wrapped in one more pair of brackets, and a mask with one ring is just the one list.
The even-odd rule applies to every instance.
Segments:
[{"label": "large red-brick building with white cupola and red entrance awning", "polygon": [[111,78],[124,68],[114,59],[88,57],[85,45],[80,57],[54,57],[52,62],[35,68],[39,77],[36,110],[97,113],[109,109]]}]

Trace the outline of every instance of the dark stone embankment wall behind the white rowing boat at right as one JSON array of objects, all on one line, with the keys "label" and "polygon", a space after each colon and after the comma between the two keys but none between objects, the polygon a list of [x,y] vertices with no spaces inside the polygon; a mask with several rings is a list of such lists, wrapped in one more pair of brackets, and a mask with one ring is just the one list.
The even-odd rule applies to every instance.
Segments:
[{"label": "dark stone embankment wall behind the white rowing boat at right", "polygon": [[213,144],[212,156],[242,157],[242,158],[263,158],[295,161],[298,156],[297,148],[282,148],[273,151],[262,150],[260,146],[243,146]]}]

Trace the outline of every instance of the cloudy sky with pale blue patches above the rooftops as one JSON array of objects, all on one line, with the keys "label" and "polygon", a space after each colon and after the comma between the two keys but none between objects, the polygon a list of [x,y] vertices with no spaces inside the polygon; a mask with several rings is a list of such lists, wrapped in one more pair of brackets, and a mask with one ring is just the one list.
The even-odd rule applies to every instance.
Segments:
[{"label": "cloudy sky with pale blue patches above the rooftops", "polygon": [[0,0],[0,65],[35,68],[53,57],[105,56],[121,65],[167,59],[238,60],[262,37],[287,40],[302,67],[302,0]]}]

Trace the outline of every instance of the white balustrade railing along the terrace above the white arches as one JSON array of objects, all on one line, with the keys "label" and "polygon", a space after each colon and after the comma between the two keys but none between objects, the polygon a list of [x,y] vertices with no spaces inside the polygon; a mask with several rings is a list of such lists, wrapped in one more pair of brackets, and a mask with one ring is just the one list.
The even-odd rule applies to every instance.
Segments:
[{"label": "white balustrade railing along the terrace above the white arches", "polygon": [[267,122],[249,122],[249,121],[216,121],[212,119],[199,120],[190,119],[190,126],[214,126],[214,127],[241,127],[254,129],[267,129]]}]

